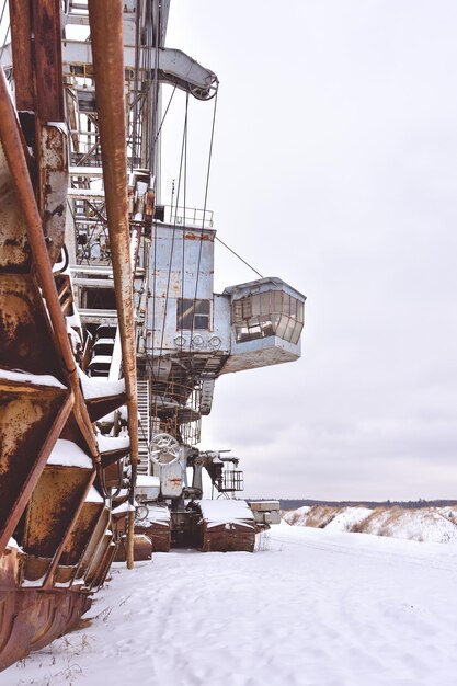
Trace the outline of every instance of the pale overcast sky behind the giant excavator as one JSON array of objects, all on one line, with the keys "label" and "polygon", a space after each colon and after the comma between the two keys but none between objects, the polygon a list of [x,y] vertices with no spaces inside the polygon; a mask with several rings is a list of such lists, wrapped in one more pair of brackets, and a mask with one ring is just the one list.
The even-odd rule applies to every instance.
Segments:
[{"label": "pale overcast sky behind the giant excavator", "polygon": [[[249,496],[457,498],[456,34],[455,0],[172,2],[220,80],[218,235],[308,296],[301,359],[220,378],[204,420]],[[216,260],[219,291],[255,278]]]}]

